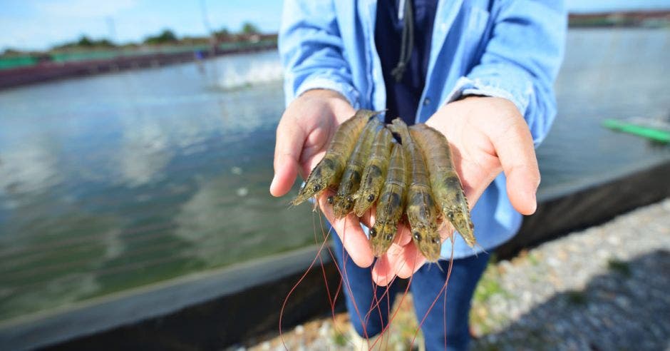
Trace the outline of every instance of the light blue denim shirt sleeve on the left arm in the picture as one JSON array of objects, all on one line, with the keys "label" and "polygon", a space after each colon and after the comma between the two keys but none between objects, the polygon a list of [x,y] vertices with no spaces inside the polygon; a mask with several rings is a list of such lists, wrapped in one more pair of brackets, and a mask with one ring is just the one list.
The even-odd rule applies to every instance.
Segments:
[{"label": "light blue denim shirt sleeve on the left arm in the picture", "polygon": [[305,91],[324,88],[340,93],[354,108],[359,105],[333,1],[284,0],[279,56],[287,104]]}]

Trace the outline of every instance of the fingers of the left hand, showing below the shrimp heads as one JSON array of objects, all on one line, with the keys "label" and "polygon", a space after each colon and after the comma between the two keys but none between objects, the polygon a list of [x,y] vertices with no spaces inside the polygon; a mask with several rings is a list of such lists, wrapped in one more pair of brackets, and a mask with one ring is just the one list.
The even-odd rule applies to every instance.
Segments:
[{"label": "fingers of the left hand, showing below the shrimp heads", "polygon": [[333,229],[339,235],[342,245],[349,253],[351,260],[354,260],[357,266],[361,268],[370,267],[374,260],[368,238],[363,233],[359,218],[354,213],[349,213],[344,218],[336,219],[333,215],[333,206],[326,200],[331,192],[319,196],[319,206],[326,218],[331,223]]}]

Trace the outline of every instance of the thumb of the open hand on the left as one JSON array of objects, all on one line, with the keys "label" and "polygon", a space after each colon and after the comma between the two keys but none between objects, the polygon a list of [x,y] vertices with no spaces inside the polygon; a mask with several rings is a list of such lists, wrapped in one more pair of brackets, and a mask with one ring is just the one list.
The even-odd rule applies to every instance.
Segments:
[{"label": "thumb of the open hand on the left", "polygon": [[305,133],[293,118],[284,116],[277,126],[277,143],[274,146],[274,178],[270,184],[273,196],[282,196],[291,190],[299,169],[300,154]]}]

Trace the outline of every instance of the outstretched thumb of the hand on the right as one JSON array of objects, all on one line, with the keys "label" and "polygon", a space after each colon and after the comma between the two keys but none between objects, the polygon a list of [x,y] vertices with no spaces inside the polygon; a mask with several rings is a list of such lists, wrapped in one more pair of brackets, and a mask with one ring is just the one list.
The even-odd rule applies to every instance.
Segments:
[{"label": "outstretched thumb of the hand on the right", "polygon": [[524,215],[535,213],[540,168],[532,136],[523,118],[515,119],[508,133],[499,134],[493,145],[507,177],[507,195],[512,206]]}]

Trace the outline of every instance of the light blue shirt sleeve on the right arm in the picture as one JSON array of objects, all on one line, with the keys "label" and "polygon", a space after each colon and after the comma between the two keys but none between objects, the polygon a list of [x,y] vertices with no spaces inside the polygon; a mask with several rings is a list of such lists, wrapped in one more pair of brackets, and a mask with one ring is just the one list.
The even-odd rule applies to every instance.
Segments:
[{"label": "light blue shirt sleeve on the right arm in the picture", "polygon": [[556,116],[553,84],[567,30],[562,1],[501,1],[478,65],[461,77],[447,101],[463,95],[507,98],[524,116],[538,146]]}]

